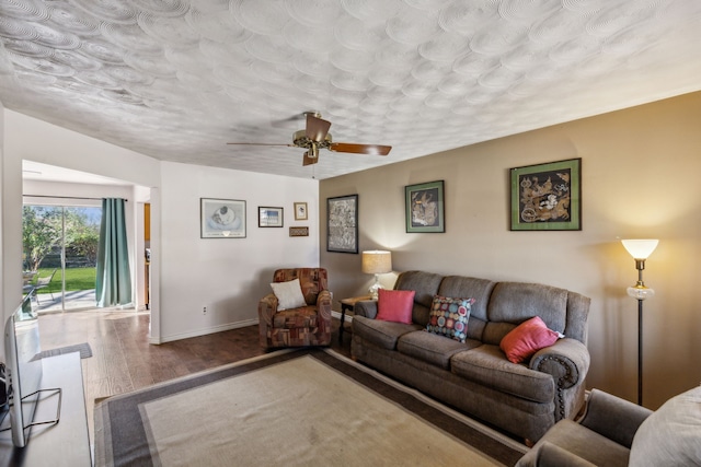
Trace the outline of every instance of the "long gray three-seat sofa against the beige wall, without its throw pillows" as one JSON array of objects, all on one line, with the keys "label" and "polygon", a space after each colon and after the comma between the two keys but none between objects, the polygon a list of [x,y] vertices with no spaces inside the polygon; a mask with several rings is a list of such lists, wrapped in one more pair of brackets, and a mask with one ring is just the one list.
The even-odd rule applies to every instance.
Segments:
[{"label": "long gray three-seat sofa against the beige wall, without its throw pillows", "polygon": [[[412,324],[375,319],[377,302],[354,310],[352,355],[460,411],[536,442],[585,401],[589,299],[554,287],[495,282],[426,271],[402,272],[395,290],[414,290]],[[472,297],[468,339],[425,331],[435,295]],[[540,316],[564,335],[529,361],[512,363],[499,342]]]}]

